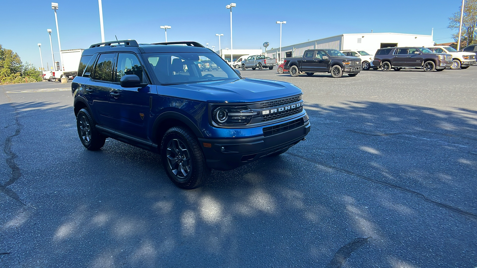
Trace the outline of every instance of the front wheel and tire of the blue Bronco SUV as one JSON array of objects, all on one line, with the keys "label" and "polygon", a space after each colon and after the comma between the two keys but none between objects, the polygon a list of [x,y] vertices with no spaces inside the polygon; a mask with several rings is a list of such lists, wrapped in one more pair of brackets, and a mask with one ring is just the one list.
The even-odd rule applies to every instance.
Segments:
[{"label": "front wheel and tire of the blue Bronco SUV", "polygon": [[197,137],[182,126],[171,127],[164,134],[161,160],[167,176],[183,189],[202,186],[210,175],[210,168]]}]

